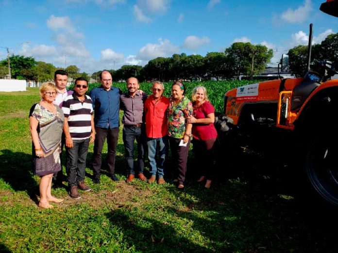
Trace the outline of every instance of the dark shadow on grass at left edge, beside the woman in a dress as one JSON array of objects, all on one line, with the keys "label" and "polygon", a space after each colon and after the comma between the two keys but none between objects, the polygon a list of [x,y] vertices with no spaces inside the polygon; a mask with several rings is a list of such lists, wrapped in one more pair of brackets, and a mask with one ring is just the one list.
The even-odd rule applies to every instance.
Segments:
[{"label": "dark shadow on grass at left edge, beside the woman in a dress", "polygon": [[38,184],[33,176],[32,156],[9,149],[0,151],[0,177],[15,191],[27,191],[37,203]]}]

